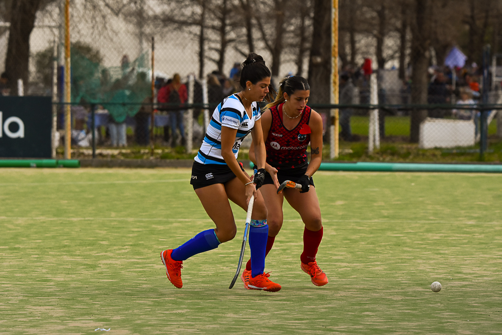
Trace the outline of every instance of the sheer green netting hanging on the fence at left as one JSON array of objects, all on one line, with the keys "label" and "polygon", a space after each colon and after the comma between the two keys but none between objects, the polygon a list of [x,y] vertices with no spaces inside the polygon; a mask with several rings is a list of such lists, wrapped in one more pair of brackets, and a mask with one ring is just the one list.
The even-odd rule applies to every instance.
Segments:
[{"label": "sheer green netting hanging on the fence at left", "polygon": [[[151,94],[146,53],[121,66],[105,67],[93,62],[77,48],[71,50],[71,98],[74,103],[98,103],[108,109],[117,123],[138,113]],[[124,103],[119,104],[119,103]]]}]

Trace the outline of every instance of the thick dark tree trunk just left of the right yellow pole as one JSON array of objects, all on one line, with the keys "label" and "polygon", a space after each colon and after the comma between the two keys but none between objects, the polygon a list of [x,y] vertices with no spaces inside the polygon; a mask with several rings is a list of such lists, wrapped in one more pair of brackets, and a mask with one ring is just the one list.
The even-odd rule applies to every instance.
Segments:
[{"label": "thick dark tree trunk just left of the right yellow pole", "polygon": [[[314,20],[309,60],[309,104],[329,103],[331,95],[331,2],[314,0],[313,3]],[[329,116],[329,109],[318,108],[317,111],[328,113]]]}]

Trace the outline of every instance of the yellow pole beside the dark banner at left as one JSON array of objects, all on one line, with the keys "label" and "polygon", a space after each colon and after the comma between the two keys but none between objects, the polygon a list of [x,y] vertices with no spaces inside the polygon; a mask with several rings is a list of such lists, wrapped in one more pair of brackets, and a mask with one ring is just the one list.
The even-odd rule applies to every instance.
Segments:
[{"label": "yellow pole beside the dark banner at left", "polygon": [[64,63],[64,90],[65,90],[65,145],[64,158],[71,158],[71,79],[70,79],[70,0],[65,3],[65,63]]}]

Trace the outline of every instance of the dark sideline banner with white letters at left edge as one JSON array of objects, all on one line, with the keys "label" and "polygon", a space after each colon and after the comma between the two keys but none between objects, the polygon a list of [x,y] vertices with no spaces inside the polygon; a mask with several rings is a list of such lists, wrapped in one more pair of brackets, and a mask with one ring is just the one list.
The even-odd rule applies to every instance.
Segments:
[{"label": "dark sideline banner with white letters at left edge", "polygon": [[51,157],[48,96],[0,96],[0,157]]}]

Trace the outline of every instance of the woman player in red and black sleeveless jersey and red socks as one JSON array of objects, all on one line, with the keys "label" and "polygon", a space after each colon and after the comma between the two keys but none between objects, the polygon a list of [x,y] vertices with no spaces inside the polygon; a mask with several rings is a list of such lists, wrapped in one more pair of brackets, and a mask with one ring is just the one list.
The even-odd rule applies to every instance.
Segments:
[{"label": "woman player in red and black sleeveless jersey and red socks", "polygon": [[[322,286],[328,283],[328,278],[316,261],[323,228],[319,200],[312,179],[312,175],[321,164],[322,119],[316,111],[307,106],[309,95],[310,86],[307,79],[300,76],[284,78],[275,101],[267,105],[268,109],[262,115],[267,172],[261,192],[269,212],[270,228],[266,254],[272,249],[274,239],[281,230],[282,206],[286,198],[305,224],[300,267],[310,275],[314,285]],[[309,142],[310,163],[307,162]],[[253,145],[249,149],[249,158],[253,162],[257,162],[259,157],[257,149],[258,147]],[[285,188],[283,192],[277,194],[279,185],[285,180],[301,184],[301,191]],[[241,275],[246,288],[252,264],[253,262],[247,262],[246,269]]]}]

